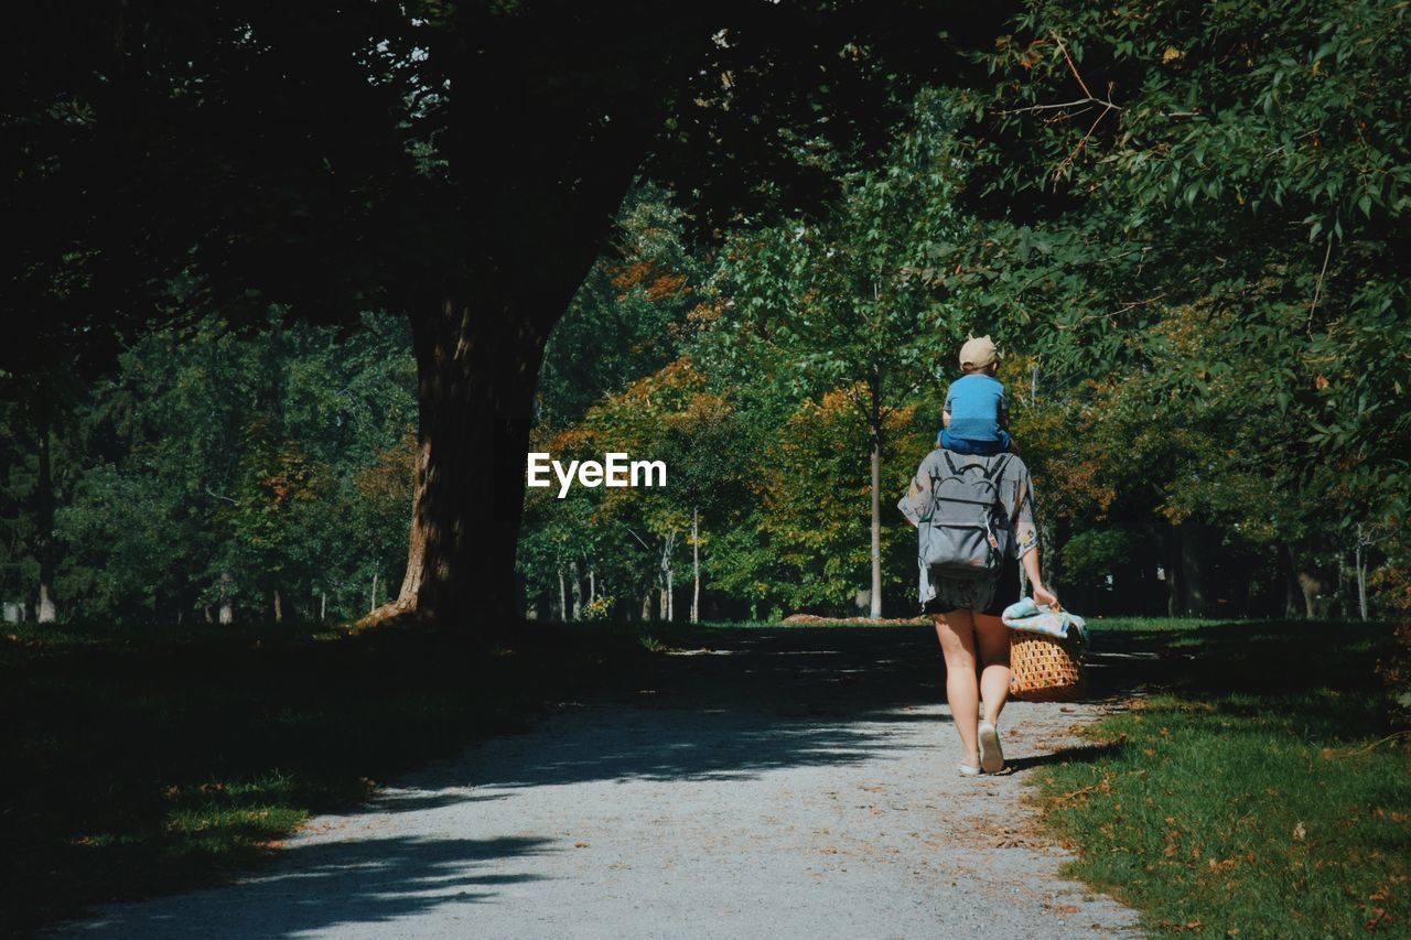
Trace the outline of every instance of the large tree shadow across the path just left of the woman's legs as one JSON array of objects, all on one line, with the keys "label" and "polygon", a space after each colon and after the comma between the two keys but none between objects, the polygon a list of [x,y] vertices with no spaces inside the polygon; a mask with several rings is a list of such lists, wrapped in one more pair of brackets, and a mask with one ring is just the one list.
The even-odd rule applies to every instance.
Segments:
[{"label": "large tree shadow across the path just left of the woman's legs", "polygon": [[[618,676],[580,734],[476,766],[476,786],[718,781],[845,765],[896,748],[882,725],[940,718],[944,668],[928,627],[703,631]],[[602,724],[597,724],[601,713]],[[444,782],[447,765],[432,773]],[[470,766],[467,765],[467,771]]]}]

